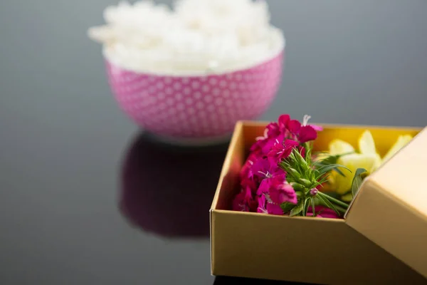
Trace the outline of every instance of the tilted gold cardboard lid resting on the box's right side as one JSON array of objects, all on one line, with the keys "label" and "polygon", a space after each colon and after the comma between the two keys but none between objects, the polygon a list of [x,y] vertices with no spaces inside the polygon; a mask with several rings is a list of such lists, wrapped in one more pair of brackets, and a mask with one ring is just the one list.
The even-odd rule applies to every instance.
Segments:
[{"label": "tilted gold cardboard lid resting on the box's right side", "polygon": [[364,180],[345,218],[427,277],[427,128]]}]

